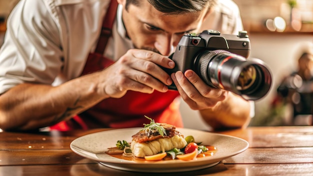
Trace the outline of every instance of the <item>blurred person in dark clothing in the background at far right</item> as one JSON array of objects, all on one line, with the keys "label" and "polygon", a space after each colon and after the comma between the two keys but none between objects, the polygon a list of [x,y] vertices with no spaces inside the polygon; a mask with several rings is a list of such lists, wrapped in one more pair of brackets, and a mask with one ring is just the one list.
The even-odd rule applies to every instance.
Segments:
[{"label": "blurred person in dark clothing in the background at far right", "polygon": [[313,114],[313,43],[304,42],[296,50],[297,69],[282,79],[276,100],[291,105],[293,124],[307,125]]}]

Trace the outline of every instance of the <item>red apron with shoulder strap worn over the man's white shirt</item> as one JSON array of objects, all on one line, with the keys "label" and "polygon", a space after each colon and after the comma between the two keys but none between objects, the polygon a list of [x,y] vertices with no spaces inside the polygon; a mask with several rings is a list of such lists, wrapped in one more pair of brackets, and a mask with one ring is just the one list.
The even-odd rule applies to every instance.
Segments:
[{"label": "red apron with shoulder strap worn over the man's white shirt", "polygon": [[[113,1],[115,0],[111,2]],[[113,13],[114,10],[111,10],[111,7],[109,9],[103,21],[108,21],[108,14],[116,14],[116,9],[115,13]],[[109,16],[111,17],[112,15]],[[113,16],[115,18],[115,15]],[[113,19],[110,19],[111,23],[113,23]],[[102,37],[101,39],[100,36],[95,52],[89,53],[82,75],[102,70],[114,63],[114,61],[102,55],[108,38],[107,32],[105,33],[106,38]],[[104,99],[70,120],[61,121],[51,126],[50,129],[143,127],[143,123],[149,123],[149,120],[144,115],[154,119],[155,122],[165,122],[173,124],[176,127],[182,127],[183,124],[179,113],[179,100],[176,99],[177,96],[179,96],[177,91],[162,93],[155,90],[153,93],[147,94],[128,90],[123,97]]]}]

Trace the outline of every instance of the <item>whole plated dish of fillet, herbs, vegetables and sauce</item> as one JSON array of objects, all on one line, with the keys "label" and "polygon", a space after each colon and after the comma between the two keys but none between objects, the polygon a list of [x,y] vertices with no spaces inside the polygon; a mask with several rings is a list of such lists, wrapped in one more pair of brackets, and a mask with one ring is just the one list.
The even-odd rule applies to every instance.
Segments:
[{"label": "whole plated dish of fillet, herbs, vegetables and sauce", "polygon": [[131,142],[118,140],[116,147],[108,148],[105,152],[112,156],[122,154],[124,157],[145,160],[191,160],[216,152],[216,147],[200,145],[200,142],[194,142],[191,135],[184,138],[184,135],[171,124],[154,122],[153,119],[145,117],[150,119],[150,123],[144,124],[142,129],[133,134]]}]

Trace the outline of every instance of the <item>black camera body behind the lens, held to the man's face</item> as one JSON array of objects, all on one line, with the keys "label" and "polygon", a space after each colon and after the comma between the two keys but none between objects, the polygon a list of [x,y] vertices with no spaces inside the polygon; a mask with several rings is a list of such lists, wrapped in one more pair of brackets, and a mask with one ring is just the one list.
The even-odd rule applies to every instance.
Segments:
[{"label": "black camera body behind the lens, held to the man's face", "polygon": [[199,35],[186,34],[181,37],[175,52],[170,56],[175,61],[172,72],[194,70],[194,58],[204,50],[226,50],[247,58],[250,54],[250,40],[246,31],[238,35],[221,34],[217,30],[203,30]]}]

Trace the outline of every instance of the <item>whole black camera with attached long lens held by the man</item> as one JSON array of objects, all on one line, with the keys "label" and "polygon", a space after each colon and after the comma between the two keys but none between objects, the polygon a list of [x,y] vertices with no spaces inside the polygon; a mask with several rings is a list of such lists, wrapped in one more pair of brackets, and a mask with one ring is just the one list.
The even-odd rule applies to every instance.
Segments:
[{"label": "whole black camera with attached long lens held by the man", "polygon": [[[268,92],[271,75],[261,60],[246,60],[249,51],[246,31],[233,35],[203,30],[198,35],[182,36],[175,52],[169,56],[175,67],[163,69],[168,74],[192,69],[212,87],[232,91],[247,100],[256,100]],[[176,89],[176,86],[171,84],[169,88]]]}]

